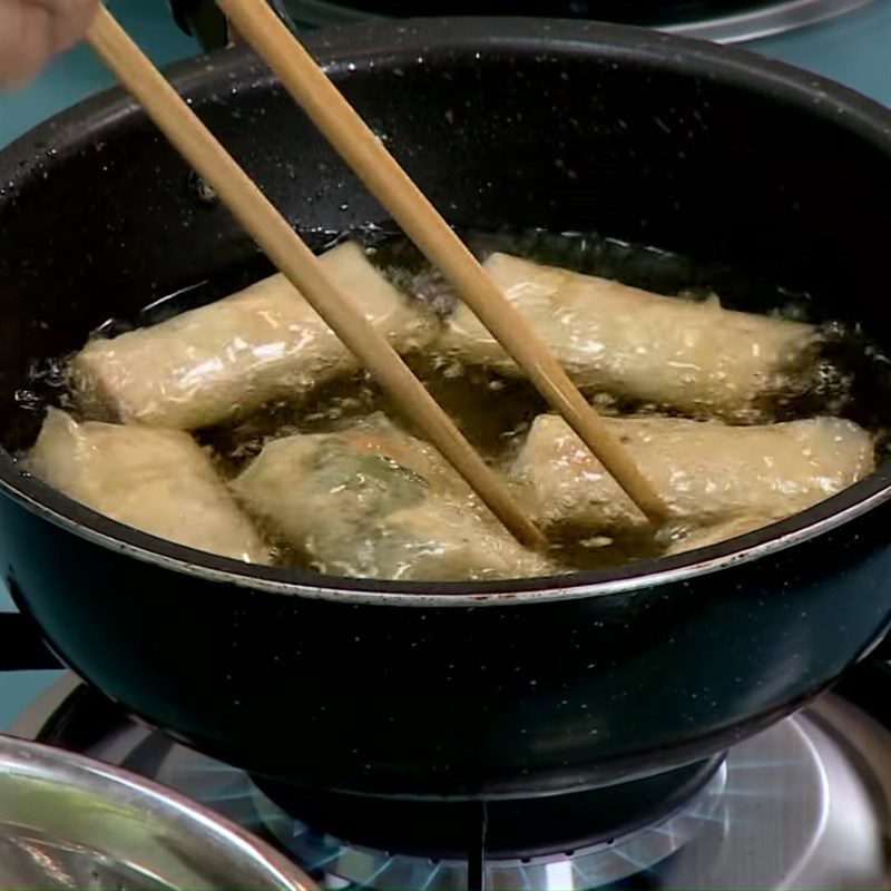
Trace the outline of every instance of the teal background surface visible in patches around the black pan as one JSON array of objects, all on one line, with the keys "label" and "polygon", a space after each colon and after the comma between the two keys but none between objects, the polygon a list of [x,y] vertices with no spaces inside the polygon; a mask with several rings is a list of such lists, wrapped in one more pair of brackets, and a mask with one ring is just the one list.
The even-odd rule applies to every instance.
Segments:
[{"label": "teal background surface visible in patches around the black pan", "polygon": [[[0,27],[7,1],[0,0]],[[198,52],[195,41],[174,25],[165,0],[110,0],[108,7],[157,65]],[[891,0],[878,0],[843,19],[757,40],[747,48],[838,80],[891,107]],[[112,82],[87,47],[59,57],[26,89],[0,96],[0,147]],[[12,608],[0,585],[0,610]],[[0,731],[8,730],[21,709],[60,675],[0,674]]]}]

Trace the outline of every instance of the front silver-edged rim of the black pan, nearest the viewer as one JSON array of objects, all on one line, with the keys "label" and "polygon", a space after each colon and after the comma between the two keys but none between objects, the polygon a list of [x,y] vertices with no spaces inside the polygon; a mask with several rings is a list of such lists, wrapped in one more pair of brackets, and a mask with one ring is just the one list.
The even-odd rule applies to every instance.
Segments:
[{"label": "front silver-edged rim of the black pan, nearest the viewer", "polygon": [[[9,466],[18,477],[18,487],[8,480]],[[489,582],[410,584],[242,564],[156,538],[97,513],[23,473],[6,452],[0,452],[0,495],[78,538],[140,562],[206,581],[226,582],[257,594],[347,604],[466,608],[635,594],[662,585],[688,582],[766,558],[826,535],[885,502],[891,503],[891,466],[883,464],[859,483],[806,511],[707,548],[627,564],[621,568],[624,571],[599,570]]]}]

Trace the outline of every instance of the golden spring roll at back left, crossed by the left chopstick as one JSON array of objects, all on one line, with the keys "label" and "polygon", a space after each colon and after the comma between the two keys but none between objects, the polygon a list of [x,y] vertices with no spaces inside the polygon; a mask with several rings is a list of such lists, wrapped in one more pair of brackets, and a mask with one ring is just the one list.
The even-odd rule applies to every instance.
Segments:
[{"label": "golden spring roll at back left, crossed by the left chopstick", "polygon": [[[383,278],[356,244],[329,251],[321,263],[398,351],[434,336],[434,317]],[[70,379],[99,417],[194,430],[300,398],[358,369],[315,310],[273,275],[160,324],[89,342]]]}]

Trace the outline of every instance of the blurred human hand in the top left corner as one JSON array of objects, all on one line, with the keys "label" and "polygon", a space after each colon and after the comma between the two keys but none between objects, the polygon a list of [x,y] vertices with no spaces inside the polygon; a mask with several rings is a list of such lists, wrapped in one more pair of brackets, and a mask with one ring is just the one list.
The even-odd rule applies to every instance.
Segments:
[{"label": "blurred human hand in the top left corner", "polygon": [[98,0],[0,0],[0,86],[23,86],[87,33]]}]

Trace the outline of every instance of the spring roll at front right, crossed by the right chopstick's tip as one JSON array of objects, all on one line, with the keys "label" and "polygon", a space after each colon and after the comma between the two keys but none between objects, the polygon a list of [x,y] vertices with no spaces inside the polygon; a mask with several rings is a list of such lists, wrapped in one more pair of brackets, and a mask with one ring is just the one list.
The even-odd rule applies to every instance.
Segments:
[{"label": "spring roll at front right, crossed by the right chopstick's tip", "polygon": [[[705,528],[765,525],[823,501],[873,469],[873,439],[852,421],[814,418],[761,427],[676,418],[606,419],[668,506]],[[536,418],[511,468],[531,516],[549,528],[646,535],[642,515],[568,425]]]}]

